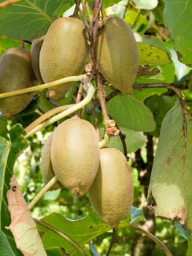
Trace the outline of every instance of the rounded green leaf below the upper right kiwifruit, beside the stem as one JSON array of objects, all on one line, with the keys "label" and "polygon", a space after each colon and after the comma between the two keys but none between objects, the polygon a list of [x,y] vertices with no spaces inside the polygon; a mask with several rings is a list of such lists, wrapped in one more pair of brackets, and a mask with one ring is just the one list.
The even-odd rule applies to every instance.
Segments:
[{"label": "rounded green leaf below the upper right kiwifruit, beside the stem", "polygon": [[155,129],[153,114],[131,95],[116,95],[107,102],[107,110],[120,127],[137,132],[150,132]]}]

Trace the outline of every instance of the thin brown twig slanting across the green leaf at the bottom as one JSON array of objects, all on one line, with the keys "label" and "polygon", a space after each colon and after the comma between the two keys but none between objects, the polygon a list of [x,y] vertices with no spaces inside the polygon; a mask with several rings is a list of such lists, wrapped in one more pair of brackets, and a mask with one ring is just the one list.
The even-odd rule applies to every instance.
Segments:
[{"label": "thin brown twig slanting across the green leaf at the bottom", "polygon": [[61,232],[60,230],[58,230],[57,228],[45,223],[45,222],[42,222],[41,220],[39,219],[34,219],[34,221],[36,223],[38,223],[39,225],[42,225],[43,227],[46,227],[48,230],[51,230],[53,231],[54,233],[58,234],[59,236],[61,236],[62,238],[64,238],[66,241],[68,241],[70,244],[72,244],[79,252],[81,255],[83,256],[88,256],[86,254],[86,252],[82,249],[82,247],[77,244],[76,241],[74,241],[72,238],[70,238],[69,236],[66,235],[66,233],[64,233],[63,231]]}]

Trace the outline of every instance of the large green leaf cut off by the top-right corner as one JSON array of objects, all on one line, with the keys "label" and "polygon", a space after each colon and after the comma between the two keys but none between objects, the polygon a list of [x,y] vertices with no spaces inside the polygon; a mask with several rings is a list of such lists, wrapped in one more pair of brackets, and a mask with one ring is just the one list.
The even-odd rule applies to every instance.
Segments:
[{"label": "large green leaf cut off by the top-right corner", "polygon": [[175,50],[180,52],[180,60],[192,66],[192,1],[164,0],[164,22],[174,40]]}]

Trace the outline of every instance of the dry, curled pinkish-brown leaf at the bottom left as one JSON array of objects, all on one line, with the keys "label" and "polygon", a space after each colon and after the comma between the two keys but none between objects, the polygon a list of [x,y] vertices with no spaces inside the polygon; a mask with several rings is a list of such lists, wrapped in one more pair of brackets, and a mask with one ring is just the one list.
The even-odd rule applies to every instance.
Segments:
[{"label": "dry, curled pinkish-brown leaf at the bottom left", "polygon": [[24,256],[46,256],[36,224],[28,211],[15,176],[11,178],[7,200],[11,215],[11,224],[7,229],[11,230],[18,249]]}]

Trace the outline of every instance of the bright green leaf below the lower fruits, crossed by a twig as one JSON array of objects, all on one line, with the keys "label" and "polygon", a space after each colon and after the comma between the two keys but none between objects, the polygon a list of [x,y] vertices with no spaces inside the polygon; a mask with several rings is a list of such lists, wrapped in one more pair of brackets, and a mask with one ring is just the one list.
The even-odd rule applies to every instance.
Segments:
[{"label": "bright green leaf below the lower fruits, crossed by a twig", "polygon": [[[50,214],[42,219],[47,225],[54,227],[61,233],[65,233],[69,238],[72,238],[77,244],[83,246],[88,244],[93,238],[107,232],[111,229],[109,225],[102,222],[94,211],[90,212],[86,217],[79,220],[66,219],[60,214]],[[54,247],[61,247],[70,255],[73,255],[77,249],[52,230],[37,223],[37,227],[42,232],[42,242],[45,249],[53,249]]]}]

